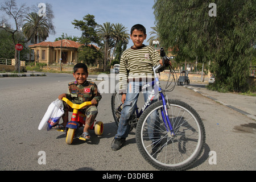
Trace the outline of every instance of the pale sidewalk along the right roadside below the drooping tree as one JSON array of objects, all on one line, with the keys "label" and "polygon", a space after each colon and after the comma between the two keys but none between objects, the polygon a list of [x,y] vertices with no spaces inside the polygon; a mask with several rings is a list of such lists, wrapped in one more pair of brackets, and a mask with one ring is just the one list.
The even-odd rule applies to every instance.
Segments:
[{"label": "pale sidewalk along the right roadside below the drooping tree", "polygon": [[191,89],[201,95],[208,97],[230,109],[236,110],[239,113],[246,115],[256,120],[256,97],[243,96],[236,93],[220,93],[211,91],[205,88],[206,85],[192,83],[191,85],[184,85],[185,88]]}]

